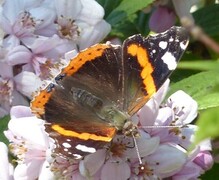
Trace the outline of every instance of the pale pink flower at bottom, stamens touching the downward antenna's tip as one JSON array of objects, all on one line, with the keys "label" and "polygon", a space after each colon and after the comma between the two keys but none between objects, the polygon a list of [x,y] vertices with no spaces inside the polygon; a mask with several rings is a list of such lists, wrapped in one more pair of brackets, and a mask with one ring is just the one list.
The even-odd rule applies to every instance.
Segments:
[{"label": "pale pink flower at bottom, stamens touching the downward antenna's tip", "polygon": [[132,162],[132,178],[159,179],[170,177],[180,170],[186,162],[186,151],[180,146],[162,144],[151,155],[142,159],[143,164],[138,161]]}]

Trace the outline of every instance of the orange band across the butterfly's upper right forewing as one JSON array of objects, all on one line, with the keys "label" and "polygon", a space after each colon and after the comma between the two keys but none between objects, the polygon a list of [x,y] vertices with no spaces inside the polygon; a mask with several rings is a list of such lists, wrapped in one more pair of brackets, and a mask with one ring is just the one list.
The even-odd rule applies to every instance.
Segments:
[{"label": "orange band across the butterfly's upper right forewing", "polygon": [[145,90],[147,91],[147,94],[151,96],[157,90],[152,76],[154,68],[149,61],[147,51],[137,44],[131,44],[128,46],[128,53],[137,57],[138,63],[142,67],[141,77],[145,85]]}]

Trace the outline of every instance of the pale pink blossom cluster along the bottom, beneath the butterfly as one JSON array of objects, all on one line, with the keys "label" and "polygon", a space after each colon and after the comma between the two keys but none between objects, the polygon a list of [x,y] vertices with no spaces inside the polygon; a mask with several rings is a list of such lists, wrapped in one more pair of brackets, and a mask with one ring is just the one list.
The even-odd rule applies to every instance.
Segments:
[{"label": "pale pink blossom cluster along the bottom, beneath the butterfly", "polygon": [[[133,138],[124,135],[116,135],[109,147],[82,160],[57,157],[53,154],[54,140],[45,132],[44,121],[32,115],[29,107],[13,107],[5,135],[10,141],[11,152],[18,160],[13,170],[7,159],[7,149],[1,147],[5,156],[0,162],[4,165],[4,177],[196,179],[212,166],[211,144],[206,140],[190,151],[197,127],[189,123],[197,116],[197,103],[183,91],[178,91],[161,104],[168,83],[132,118],[141,135],[136,138],[141,163]],[[28,128],[24,129],[23,124]]]}]

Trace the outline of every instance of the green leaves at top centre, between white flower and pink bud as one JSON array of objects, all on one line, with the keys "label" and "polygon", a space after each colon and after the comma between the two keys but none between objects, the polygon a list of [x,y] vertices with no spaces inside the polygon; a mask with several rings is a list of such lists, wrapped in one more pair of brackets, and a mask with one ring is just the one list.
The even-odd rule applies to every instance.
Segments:
[{"label": "green leaves at top centre, between white flower and pink bud", "polygon": [[136,33],[147,35],[149,14],[141,10],[153,0],[99,0],[105,9],[105,19],[112,26],[111,36],[127,38]]}]

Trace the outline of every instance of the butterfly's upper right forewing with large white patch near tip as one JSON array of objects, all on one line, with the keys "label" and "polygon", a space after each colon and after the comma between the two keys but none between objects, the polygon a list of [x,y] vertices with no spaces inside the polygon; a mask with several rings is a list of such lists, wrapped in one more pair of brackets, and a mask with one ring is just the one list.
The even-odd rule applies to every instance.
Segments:
[{"label": "butterfly's upper right forewing with large white patch near tip", "polygon": [[147,38],[134,35],[124,42],[124,105],[130,115],[162,86],[176,68],[187,44],[188,33],[180,27]]}]

